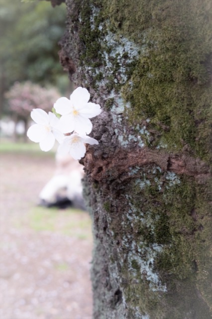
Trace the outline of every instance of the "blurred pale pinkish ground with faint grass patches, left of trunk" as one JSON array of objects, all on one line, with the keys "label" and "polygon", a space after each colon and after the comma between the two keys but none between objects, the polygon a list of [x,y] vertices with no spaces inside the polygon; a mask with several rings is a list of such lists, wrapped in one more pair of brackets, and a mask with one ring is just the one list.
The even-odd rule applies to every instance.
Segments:
[{"label": "blurred pale pinkish ground with faint grass patches, left of trunk", "polygon": [[37,207],[54,157],[0,155],[0,319],[91,319],[91,222]]}]

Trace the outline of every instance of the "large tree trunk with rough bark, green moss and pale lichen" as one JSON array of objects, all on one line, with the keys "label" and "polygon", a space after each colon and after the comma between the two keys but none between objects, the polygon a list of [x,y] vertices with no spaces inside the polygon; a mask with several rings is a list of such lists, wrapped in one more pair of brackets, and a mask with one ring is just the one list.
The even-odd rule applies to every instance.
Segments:
[{"label": "large tree trunk with rough bark, green moss and pale lichen", "polygon": [[211,0],[66,0],[61,63],[103,112],[85,197],[94,319],[211,319]]}]

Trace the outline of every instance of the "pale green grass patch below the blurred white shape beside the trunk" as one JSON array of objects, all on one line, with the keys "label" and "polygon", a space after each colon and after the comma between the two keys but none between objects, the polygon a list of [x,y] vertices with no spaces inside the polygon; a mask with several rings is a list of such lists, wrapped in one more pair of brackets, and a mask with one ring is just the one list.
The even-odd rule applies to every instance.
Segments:
[{"label": "pale green grass patch below the blurred white shape beside the trunk", "polygon": [[24,218],[16,220],[17,228],[31,228],[36,232],[55,232],[78,239],[91,239],[91,219],[87,212],[69,208],[32,207]]}]

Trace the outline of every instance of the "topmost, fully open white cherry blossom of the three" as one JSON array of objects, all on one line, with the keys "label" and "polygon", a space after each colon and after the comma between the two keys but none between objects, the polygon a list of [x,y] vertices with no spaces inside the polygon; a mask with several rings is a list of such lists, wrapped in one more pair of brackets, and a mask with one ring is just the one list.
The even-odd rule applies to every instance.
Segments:
[{"label": "topmost, fully open white cherry blossom of the three", "polygon": [[80,135],[90,134],[92,123],[89,119],[99,115],[101,107],[99,104],[89,101],[90,93],[87,89],[78,87],[70,95],[70,100],[62,97],[54,104],[55,111],[62,115],[58,128],[63,133],[75,131]]}]

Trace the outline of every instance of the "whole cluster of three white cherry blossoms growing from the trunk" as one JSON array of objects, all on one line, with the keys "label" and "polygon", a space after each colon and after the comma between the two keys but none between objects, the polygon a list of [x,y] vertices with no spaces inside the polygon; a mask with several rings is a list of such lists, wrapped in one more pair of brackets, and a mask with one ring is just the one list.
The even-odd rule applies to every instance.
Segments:
[{"label": "whole cluster of three white cherry blossoms growing from the trunk", "polygon": [[55,140],[59,142],[58,153],[70,154],[75,160],[85,156],[85,144],[99,144],[88,135],[92,131],[91,118],[102,110],[99,104],[91,103],[87,89],[78,87],[70,96],[70,100],[62,97],[54,104],[54,113],[48,114],[42,109],[33,109],[31,118],[36,123],[27,131],[28,138],[39,143],[42,151],[50,151]]}]

